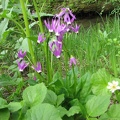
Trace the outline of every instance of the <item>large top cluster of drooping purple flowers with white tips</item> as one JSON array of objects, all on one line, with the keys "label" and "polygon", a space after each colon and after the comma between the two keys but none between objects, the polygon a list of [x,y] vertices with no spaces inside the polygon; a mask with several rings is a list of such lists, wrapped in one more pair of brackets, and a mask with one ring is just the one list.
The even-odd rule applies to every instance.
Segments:
[{"label": "large top cluster of drooping purple flowers with white tips", "polygon": [[76,17],[69,8],[62,8],[61,12],[56,14],[51,21],[44,20],[48,31],[55,36],[55,39],[49,41],[48,44],[50,51],[56,56],[56,58],[61,56],[64,34],[68,31],[73,31],[75,33],[78,33],[79,31],[80,26],[77,24],[75,27],[72,26],[75,19]]}]

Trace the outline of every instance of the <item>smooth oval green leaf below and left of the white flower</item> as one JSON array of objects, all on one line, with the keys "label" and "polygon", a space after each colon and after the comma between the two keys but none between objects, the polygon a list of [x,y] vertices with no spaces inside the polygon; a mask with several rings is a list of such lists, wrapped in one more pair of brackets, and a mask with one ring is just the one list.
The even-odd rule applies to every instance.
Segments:
[{"label": "smooth oval green leaf below and left of the white flower", "polygon": [[94,96],[86,103],[86,110],[90,117],[97,117],[107,111],[110,104],[110,95]]}]

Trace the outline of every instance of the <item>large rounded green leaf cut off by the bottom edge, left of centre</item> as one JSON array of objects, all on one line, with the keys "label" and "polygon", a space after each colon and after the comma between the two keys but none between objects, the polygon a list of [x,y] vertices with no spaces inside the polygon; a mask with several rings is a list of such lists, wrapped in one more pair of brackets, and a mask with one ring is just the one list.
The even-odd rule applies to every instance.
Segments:
[{"label": "large rounded green leaf cut off by the bottom edge, left of centre", "polygon": [[24,120],[62,120],[59,111],[48,103],[38,104],[27,111]]}]

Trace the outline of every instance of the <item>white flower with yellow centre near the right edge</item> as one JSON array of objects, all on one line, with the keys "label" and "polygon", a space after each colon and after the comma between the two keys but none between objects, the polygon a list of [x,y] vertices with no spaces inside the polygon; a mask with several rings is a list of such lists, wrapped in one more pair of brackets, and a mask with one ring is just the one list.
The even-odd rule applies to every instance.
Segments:
[{"label": "white flower with yellow centre near the right edge", "polygon": [[109,89],[112,93],[116,90],[120,90],[120,86],[118,86],[118,81],[108,82],[107,89]]}]

